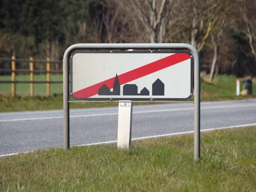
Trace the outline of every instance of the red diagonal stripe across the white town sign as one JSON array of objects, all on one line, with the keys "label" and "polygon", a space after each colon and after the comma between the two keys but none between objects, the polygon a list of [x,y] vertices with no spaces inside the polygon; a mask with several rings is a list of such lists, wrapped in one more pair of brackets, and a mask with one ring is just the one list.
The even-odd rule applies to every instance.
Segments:
[{"label": "red diagonal stripe across the white town sign", "polygon": [[[118,75],[119,83],[120,85],[128,83],[130,81],[134,81],[135,79],[139,79],[141,77],[147,76],[151,73],[157,72],[159,70],[162,70],[166,67],[170,67],[172,65],[175,65],[177,63],[180,63],[182,61],[186,61],[187,59],[190,59],[190,55],[187,53],[175,53],[173,55],[170,55],[166,58],[162,58],[160,60],[154,61],[150,64],[146,64],[142,67],[139,67],[137,69],[128,71],[126,73],[123,73],[121,75]],[[99,88],[105,84],[109,89],[113,88],[113,84],[115,81],[115,77],[112,77],[111,79],[107,79],[105,81],[99,82],[97,84],[94,84],[90,87],[86,87],[82,90],[76,91],[73,93],[73,96],[76,98],[89,98],[91,96],[97,95]]]}]

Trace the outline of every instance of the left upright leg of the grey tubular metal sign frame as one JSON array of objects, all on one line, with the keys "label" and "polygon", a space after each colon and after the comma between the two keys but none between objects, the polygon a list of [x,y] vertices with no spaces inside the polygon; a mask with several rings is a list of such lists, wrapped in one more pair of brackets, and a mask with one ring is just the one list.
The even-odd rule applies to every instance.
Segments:
[{"label": "left upright leg of the grey tubular metal sign frame", "polygon": [[70,148],[69,50],[63,57],[63,148]]}]

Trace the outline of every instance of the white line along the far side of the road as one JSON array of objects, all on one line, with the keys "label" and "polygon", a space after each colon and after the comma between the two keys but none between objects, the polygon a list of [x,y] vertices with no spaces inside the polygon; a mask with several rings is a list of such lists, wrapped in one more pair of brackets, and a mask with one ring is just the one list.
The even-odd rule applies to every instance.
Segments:
[{"label": "white line along the far side of the road", "polygon": [[[235,105],[235,106],[216,106],[216,107],[201,107],[201,110],[205,109],[222,109],[222,108],[248,108],[256,107],[256,105]],[[190,111],[194,108],[183,108],[183,109],[162,109],[162,110],[152,110],[152,111],[134,111],[133,114],[142,113],[159,113],[159,112],[171,112],[171,111]],[[91,116],[111,116],[118,115],[118,113],[102,113],[102,114],[87,114],[87,115],[70,115],[70,118],[77,117],[91,117]],[[32,120],[45,120],[45,119],[63,119],[63,116],[52,116],[52,117],[32,117],[32,118],[19,118],[19,119],[0,119],[0,122],[15,122],[15,121],[32,121]]]}]

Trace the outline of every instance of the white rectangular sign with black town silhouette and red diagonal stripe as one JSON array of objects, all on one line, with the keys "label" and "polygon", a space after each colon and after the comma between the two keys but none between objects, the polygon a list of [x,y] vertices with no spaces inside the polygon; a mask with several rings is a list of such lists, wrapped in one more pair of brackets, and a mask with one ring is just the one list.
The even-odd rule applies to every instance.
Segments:
[{"label": "white rectangular sign with black town silhouette and red diagonal stripe", "polygon": [[78,100],[187,100],[188,51],[82,51],[71,54],[71,95]]}]

